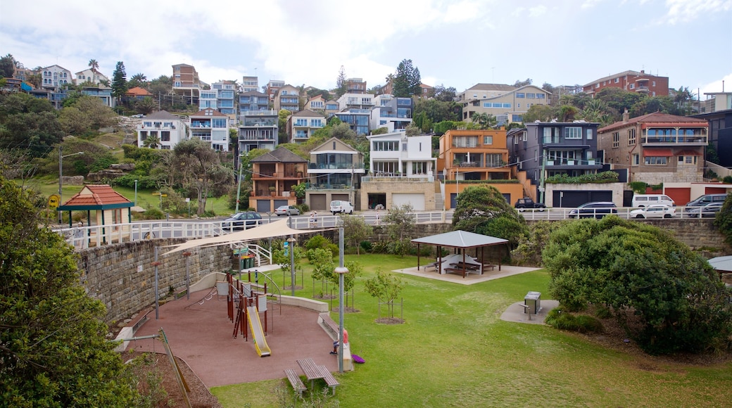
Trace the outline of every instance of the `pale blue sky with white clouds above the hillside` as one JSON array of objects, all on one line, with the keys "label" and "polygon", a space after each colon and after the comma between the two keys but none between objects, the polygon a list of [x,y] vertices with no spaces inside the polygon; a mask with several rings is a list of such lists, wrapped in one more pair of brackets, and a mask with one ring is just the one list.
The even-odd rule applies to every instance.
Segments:
[{"label": "pale blue sky with white clouds above the hillside", "polygon": [[[2,0],[6,2],[10,0]],[[732,0],[15,1],[0,14],[0,54],[72,73],[94,58],[111,78],[172,75],[206,83],[383,85],[404,59],[422,83],[531,79],[585,85],[641,71],[692,93],[732,91]]]}]

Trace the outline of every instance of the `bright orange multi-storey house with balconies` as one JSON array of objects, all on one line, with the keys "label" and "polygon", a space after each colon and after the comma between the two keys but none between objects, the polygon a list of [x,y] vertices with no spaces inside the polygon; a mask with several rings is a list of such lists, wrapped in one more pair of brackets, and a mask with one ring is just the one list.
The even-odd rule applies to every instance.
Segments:
[{"label": "bright orange multi-storey house with balconies", "polygon": [[523,197],[512,178],[506,131],[451,129],[440,137],[437,168],[443,179],[444,209],[455,208],[458,194],[478,184],[496,187],[509,203]]}]

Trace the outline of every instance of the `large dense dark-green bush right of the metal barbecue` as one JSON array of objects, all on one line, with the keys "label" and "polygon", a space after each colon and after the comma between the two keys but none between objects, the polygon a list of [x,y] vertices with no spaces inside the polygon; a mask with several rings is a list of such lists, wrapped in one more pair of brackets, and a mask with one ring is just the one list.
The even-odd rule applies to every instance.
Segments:
[{"label": "large dense dark-green bush right of the metal barbecue", "polygon": [[610,310],[646,352],[730,346],[731,290],[665,230],[616,216],[567,222],[543,260],[554,299],[569,310]]}]

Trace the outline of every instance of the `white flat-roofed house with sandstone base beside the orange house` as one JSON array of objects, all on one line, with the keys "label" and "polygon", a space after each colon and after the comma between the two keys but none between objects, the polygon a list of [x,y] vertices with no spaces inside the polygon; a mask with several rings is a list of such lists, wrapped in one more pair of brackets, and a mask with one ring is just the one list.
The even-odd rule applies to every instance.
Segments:
[{"label": "white flat-roofed house with sandstone base beside the orange house", "polygon": [[404,132],[367,136],[370,172],[361,181],[360,207],[389,209],[410,204],[414,210],[441,210],[442,194],[435,181],[437,159],[432,136]]}]

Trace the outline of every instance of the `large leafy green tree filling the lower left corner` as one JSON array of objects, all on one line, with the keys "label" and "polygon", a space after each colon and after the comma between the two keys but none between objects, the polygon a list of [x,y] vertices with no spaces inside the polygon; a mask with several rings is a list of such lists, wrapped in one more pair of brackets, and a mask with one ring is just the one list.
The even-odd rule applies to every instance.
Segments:
[{"label": "large leafy green tree filling the lower left corner", "polygon": [[3,405],[135,406],[116,344],[105,338],[104,305],[81,285],[73,249],[42,225],[45,199],[2,176],[0,192]]}]

